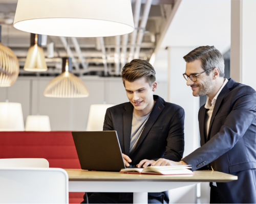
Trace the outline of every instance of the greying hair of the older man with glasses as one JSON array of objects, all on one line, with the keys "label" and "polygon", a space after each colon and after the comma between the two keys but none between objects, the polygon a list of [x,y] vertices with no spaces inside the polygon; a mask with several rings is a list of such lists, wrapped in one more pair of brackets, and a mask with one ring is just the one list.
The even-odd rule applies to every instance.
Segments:
[{"label": "greying hair of the older man with glasses", "polygon": [[[186,62],[193,62],[195,60],[201,60],[202,68],[206,71],[211,68],[218,68],[220,70],[220,77],[224,77],[224,59],[218,49],[215,46],[201,46],[193,49],[190,53],[185,55],[183,59]],[[206,72],[210,74],[209,71]]]}]

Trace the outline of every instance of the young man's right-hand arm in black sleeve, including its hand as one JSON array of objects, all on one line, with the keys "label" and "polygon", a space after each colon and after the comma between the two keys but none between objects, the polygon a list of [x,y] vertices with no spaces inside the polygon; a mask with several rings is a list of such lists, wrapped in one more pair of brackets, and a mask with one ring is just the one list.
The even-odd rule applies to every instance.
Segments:
[{"label": "young man's right-hand arm in black sleeve, including its hand", "polygon": [[[183,108],[176,111],[173,119],[170,121],[169,132],[167,137],[167,146],[164,156],[164,160],[180,161],[184,152],[184,119],[185,112]],[[153,164],[157,159],[142,160],[137,167],[146,167]]]}]

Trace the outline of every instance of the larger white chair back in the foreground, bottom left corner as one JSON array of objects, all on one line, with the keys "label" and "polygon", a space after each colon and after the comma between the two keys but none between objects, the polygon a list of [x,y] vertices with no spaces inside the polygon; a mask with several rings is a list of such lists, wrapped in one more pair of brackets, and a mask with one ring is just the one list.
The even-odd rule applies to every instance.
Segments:
[{"label": "larger white chair back in the foreground, bottom left corner", "polygon": [[64,169],[0,169],[0,203],[68,204],[68,186],[68,174]]}]

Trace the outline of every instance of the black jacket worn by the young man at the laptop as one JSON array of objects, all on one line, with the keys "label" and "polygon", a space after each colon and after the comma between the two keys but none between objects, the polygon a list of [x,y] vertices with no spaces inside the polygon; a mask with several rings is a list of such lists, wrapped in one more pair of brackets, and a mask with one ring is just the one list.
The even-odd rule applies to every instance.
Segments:
[{"label": "black jacket worn by the young man at the laptop", "polygon": [[[165,158],[180,161],[183,156],[185,118],[183,108],[166,103],[157,95],[154,95],[154,100],[156,104],[132,155],[130,155],[130,142],[133,105],[129,102],[106,110],[103,131],[117,131],[122,153],[131,158],[132,165],[137,165],[143,159]],[[166,196],[168,197],[165,193]]]}]

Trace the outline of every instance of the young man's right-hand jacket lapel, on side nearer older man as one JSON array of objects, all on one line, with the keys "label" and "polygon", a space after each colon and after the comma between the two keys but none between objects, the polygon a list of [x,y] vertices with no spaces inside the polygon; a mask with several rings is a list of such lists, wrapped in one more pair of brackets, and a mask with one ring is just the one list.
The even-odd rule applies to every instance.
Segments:
[{"label": "young man's right-hand jacket lapel, on side nearer older man", "polygon": [[140,144],[144,140],[144,138],[147,136],[147,133],[151,130],[151,127],[154,125],[154,123],[158,119],[159,115],[162,113],[163,109],[164,109],[164,105],[162,104],[160,97],[158,96],[156,104],[154,105],[154,107],[152,109],[150,118],[148,118],[148,120],[145,124],[145,127],[140,135],[139,141],[134,149],[134,152],[140,146]]}]

